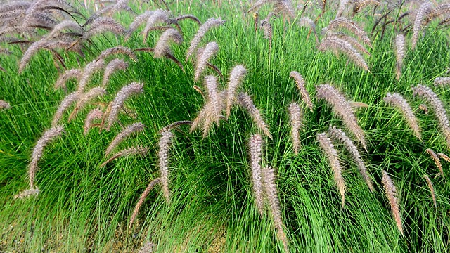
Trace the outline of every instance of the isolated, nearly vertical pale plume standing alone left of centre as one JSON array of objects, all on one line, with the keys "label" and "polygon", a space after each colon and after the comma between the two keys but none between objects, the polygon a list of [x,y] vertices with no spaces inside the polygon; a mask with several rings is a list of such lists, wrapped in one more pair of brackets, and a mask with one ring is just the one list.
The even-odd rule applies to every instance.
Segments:
[{"label": "isolated, nearly vertical pale plume standing alone left of centre", "polygon": [[170,202],[170,190],[169,190],[169,149],[172,145],[172,138],[174,134],[169,129],[165,129],[161,132],[160,142],[158,143],[158,158],[161,173],[162,193],[166,199],[167,204]]}]

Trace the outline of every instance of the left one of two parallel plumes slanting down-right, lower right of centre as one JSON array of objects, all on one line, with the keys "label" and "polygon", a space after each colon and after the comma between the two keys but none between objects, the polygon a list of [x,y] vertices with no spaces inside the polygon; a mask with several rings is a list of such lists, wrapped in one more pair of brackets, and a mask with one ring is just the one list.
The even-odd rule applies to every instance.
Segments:
[{"label": "left one of two parallel plumes slanting down-right, lower right of centre", "polygon": [[333,170],[335,183],[340,193],[340,209],[342,210],[345,203],[345,181],[342,177],[342,167],[340,166],[338,152],[335,150],[333,143],[331,143],[330,139],[326,136],[326,133],[316,134],[316,140],[319,142],[323,153],[328,157],[328,162],[330,162],[330,167]]}]

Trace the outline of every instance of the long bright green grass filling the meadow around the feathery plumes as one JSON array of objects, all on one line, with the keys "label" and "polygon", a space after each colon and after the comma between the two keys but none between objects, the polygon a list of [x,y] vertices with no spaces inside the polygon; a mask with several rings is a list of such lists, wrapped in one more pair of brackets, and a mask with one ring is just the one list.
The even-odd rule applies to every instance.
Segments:
[{"label": "long bright green grass filling the meadow around the feathery plumes", "polygon": [[[165,8],[155,3],[158,1],[138,8],[131,2],[130,6],[136,13]],[[81,3],[73,4],[87,15],[93,13],[84,10]],[[329,5],[328,12],[316,22],[318,31],[335,17],[333,6],[338,3]],[[224,79],[218,78],[220,87],[226,85],[234,66],[244,65],[248,71],[240,90],[252,96],[273,136],[273,140],[265,138],[262,164],[276,168],[278,174],[276,185],[291,252],[449,251],[450,184],[442,176],[435,178],[439,170],[425,152],[432,148],[448,154],[449,149],[434,110],[430,105],[428,114],[419,110],[425,102],[413,97],[411,91],[417,84],[430,86],[449,109],[448,89],[432,85],[436,77],[446,76],[449,67],[450,34],[446,27],[437,29],[433,22],[414,51],[407,47],[397,80],[394,38],[398,31],[389,25],[383,38],[380,28],[371,36],[373,48],[368,48],[371,56],[366,57],[367,72],[345,56],[318,51],[309,29],[296,23],[300,11],[290,22],[283,18],[272,21],[269,51],[269,41],[262,30],[255,32],[252,13],[247,13],[250,4],[172,1],[168,6],[174,15],[193,14],[202,22],[212,17],[226,20],[210,30],[203,42],[217,41],[219,45],[217,56],[210,61],[224,74]],[[367,32],[379,17],[372,11],[373,7],[368,7],[354,17]],[[264,17],[268,12],[266,6],[259,15]],[[317,7],[304,15],[314,19],[319,13]],[[395,9],[394,13],[399,15],[400,11]],[[134,16],[120,11],[113,18],[127,27]],[[190,133],[188,126],[173,130],[171,201],[167,203],[161,187],[156,186],[134,225],[128,228],[139,196],[160,176],[158,132],[167,124],[195,119],[204,105],[203,96],[193,89],[194,84],[204,87],[203,81],[193,82],[193,64],[184,61],[198,25],[192,20],[183,20],[180,25],[184,41],[171,48],[184,71],[173,61],[155,59],[148,52],[136,52],[137,61],[119,56],[127,60],[129,68],[113,74],[108,94],[80,110],[74,120],[67,122],[65,115],[63,135],[46,147],[39,162],[35,182],[40,193],[24,200],[14,199],[14,195],[28,187],[32,149],[51,127],[53,115],[67,93],[53,88],[58,70],[48,51],[39,51],[18,73],[23,51],[15,44],[7,46],[12,55],[0,55],[0,65],[6,70],[0,71],[0,99],[11,104],[11,108],[0,111],[0,252],[134,252],[146,241],[155,244],[154,252],[284,252],[269,213],[260,216],[255,205],[247,143],[257,129],[248,113],[237,107],[206,138],[200,131]],[[85,57],[65,53],[65,65],[83,67],[112,46],[153,47],[160,34],[150,32],[146,44],[139,32],[127,41],[108,32],[98,34],[92,44],[86,44]],[[302,99],[290,78],[291,71],[302,74],[315,105],[314,112],[302,105],[304,119],[297,155],[290,139],[288,106]],[[136,113],[122,113],[120,124],[114,124],[110,131],[94,128],[84,136],[89,109],[109,103],[122,86],[131,82],[144,84],[143,93],[125,103]],[[330,125],[343,127],[332,108],[315,97],[314,87],[326,83],[337,87],[347,99],[368,105],[355,112],[366,134],[367,151],[359,147],[361,157],[375,190],[369,190],[356,164],[340,151],[347,186],[342,210],[333,171],[316,141],[316,134],[327,131]],[[99,84],[101,74],[94,74],[89,86]],[[69,91],[75,86],[76,82],[68,82]],[[409,101],[422,128],[422,141],[414,136],[401,112],[383,101],[389,92],[400,93]],[[101,167],[110,141],[122,126],[134,122],[142,122],[146,129],[127,138],[121,147],[147,146],[148,154],[122,157]],[[335,148],[344,150],[342,145]],[[444,175],[450,176],[449,163],[442,160],[442,165]],[[392,218],[381,183],[383,170],[397,187],[404,235]],[[434,183],[437,207],[424,174]]]}]

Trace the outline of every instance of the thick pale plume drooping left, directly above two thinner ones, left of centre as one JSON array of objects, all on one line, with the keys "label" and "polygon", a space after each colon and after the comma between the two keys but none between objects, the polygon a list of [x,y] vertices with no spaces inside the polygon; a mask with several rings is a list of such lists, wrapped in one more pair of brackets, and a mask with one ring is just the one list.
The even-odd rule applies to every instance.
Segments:
[{"label": "thick pale plume drooping left, directly above two thinner ones, left of centre", "polygon": [[117,92],[117,95],[115,96],[113,102],[111,102],[110,104],[110,111],[108,115],[106,115],[107,131],[110,130],[111,126],[113,126],[113,123],[117,119],[117,115],[119,115],[120,108],[122,108],[124,101],[132,94],[142,92],[143,92],[143,84],[139,82],[132,82],[127,86],[123,86],[122,89],[120,89],[120,91]]}]

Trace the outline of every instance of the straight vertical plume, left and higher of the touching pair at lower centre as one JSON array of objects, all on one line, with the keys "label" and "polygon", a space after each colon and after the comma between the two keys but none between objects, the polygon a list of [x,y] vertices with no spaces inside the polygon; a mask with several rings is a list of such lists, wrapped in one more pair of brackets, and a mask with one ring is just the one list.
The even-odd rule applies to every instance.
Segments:
[{"label": "straight vertical plume, left and higher of the touching pair at lower centre", "polygon": [[259,134],[253,134],[248,141],[248,148],[250,150],[250,167],[252,167],[252,183],[253,194],[255,194],[255,202],[259,214],[264,212],[264,193],[262,186],[262,137]]}]

